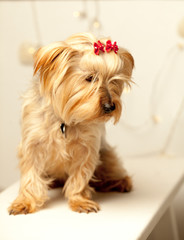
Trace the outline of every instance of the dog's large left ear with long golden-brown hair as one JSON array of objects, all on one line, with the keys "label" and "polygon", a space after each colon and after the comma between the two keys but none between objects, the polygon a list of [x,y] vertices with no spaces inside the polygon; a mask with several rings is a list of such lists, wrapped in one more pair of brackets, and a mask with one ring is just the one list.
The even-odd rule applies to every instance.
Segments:
[{"label": "dog's large left ear with long golden-brown hair", "polygon": [[[69,68],[69,61],[76,54],[65,42],[56,42],[40,48],[34,55],[34,75],[39,73],[42,93],[50,93],[60,84]],[[58,74],[59,79],[57,77]],[[58,80],[58,82],[57,82]]]}]

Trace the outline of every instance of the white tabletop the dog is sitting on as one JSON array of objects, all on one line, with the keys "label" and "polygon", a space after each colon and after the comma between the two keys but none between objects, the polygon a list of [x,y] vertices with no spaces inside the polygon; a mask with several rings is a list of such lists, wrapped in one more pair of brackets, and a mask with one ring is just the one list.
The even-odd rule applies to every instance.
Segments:
[{"label": "white tabletop the dog is sitting on", "polygon": [[134,190],[96,194],[98,213],[72,212],[61,189],[55,189],[40,211],[9,216],[7,208],[19,188],[15,183],[0,194],[0,239],[146,239],[182,185],[184,159],[127,159],[124,165],[133,177]]}]

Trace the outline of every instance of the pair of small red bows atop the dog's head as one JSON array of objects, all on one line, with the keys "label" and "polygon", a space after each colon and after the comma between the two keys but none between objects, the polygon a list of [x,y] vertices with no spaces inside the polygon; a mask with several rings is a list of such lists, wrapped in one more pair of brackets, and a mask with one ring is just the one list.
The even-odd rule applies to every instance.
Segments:
[{"label": "pair of small red bows atop the dog's head", "polygon": [[97,43],[96,42],[94,43],[94,53],[96,55],[99,55],[100,51],[105,52],[104,48],[105,48],[106,52],[108,52],[108,53],[111,50],[113,50],[117,54],[117,52],[119,50],[116,42],[114,42],[114,44],[112,44],[111,40],[108,40],[106,42],[106,46],[103,43],[101,43],[100,41],[98,41]]}]

